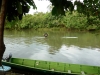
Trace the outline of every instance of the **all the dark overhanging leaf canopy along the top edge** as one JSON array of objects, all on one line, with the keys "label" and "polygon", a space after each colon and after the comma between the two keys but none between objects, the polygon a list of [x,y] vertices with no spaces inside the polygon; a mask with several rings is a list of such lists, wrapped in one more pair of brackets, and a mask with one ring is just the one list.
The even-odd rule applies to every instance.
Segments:
[{"label": "all the dark overhanging leaf canopy along the top edge", "polygon": [[[50,0],[52,3],[52,15],[65,15],[66,11],[73,11],[74,6],[77,6],[79,13],[85,14],[87,17],[90,15],[96,16],[100,19],[100,0],[76,0],[74,4],[71,0]],[[2,0],[0,0],[1,7]],[[29,12],[30,7],[36,9],[33,0],[8,0],[7,6],[7,19],[8,21],[15,20],[16,18],[22,19],[22,16]]]}]

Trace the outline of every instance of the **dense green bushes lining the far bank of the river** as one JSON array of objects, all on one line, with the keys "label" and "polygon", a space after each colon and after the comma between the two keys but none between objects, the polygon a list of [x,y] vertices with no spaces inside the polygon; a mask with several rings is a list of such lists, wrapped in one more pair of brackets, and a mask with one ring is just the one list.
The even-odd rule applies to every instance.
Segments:
[{"label": "dense green bushes lining the far bank of the river", "polygon": [[77,11],[66,12],[66,16],[53,16],[51,12],[36,12],[27,14],[22,20],[6,21],[5,29],[40,29],[40,28],[66,28],[67,30],[98,30],[100,20],[96,17],[89,18]]}]

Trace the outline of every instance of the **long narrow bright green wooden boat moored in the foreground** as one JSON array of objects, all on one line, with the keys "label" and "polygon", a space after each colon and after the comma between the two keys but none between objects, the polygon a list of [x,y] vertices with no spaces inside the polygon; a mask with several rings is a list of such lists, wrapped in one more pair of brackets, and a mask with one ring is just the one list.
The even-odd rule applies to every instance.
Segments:
[{"label": "long narrow bright green wooden boat moored in the foreground", "polygon": [[47,73],[62,73],[62,74],[100,74],[99,66],[88,66],[79,64],[69,64],[61,62],[41,61],[11,58],[10,62],[2,61],[3,65],[11,66],[12,68],[23,71],[39,71]]}]

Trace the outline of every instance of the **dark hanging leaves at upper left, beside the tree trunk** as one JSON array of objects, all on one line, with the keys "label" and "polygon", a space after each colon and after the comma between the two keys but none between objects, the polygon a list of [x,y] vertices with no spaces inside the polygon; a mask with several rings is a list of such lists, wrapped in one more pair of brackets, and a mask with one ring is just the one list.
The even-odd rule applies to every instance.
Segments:
[{"label": "dark hanging leaves at upper left, beside the tree trunk", "polygon": [[33,0],[10,0],[7,4],[8,21],[16,19],[21,20],[22,16],[29,12],[31,6],[33,6],[33,9],[36,9],[36,5]]}]

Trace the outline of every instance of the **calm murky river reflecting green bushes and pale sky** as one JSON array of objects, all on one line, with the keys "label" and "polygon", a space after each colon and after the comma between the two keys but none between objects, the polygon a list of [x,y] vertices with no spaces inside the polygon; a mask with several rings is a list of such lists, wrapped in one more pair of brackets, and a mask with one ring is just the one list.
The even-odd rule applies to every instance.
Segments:
[{"label": "calm murky river reflecting green bushes and pale sky", "polygon": [[100,66],[99,32],[5,30],[4,42],[4,57]]}]

